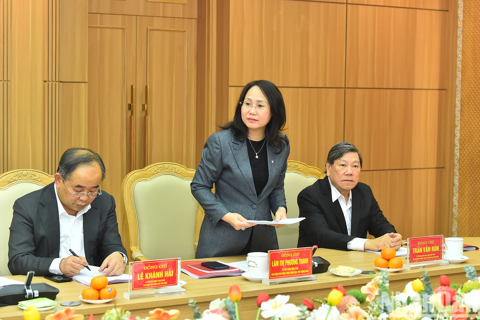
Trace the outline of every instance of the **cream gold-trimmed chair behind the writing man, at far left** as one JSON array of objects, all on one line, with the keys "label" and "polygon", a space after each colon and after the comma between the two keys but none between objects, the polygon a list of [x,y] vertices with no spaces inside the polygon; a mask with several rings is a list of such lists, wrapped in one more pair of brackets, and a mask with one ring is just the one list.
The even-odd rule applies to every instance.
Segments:
[{"label": "cream gold-trimmed chair behind the writing man, at far left", "polygon": [[8,270],[8,238],[13,217],[13,203],[25,194],[42,189],[54,181],[53,176],[33,169],[13,170],[0,175],[0,276]]}]

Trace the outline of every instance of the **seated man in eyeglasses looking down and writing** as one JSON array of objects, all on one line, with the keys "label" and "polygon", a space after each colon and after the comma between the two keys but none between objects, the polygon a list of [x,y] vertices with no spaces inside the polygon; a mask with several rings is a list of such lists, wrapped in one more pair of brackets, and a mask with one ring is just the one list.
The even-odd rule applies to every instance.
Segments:
[{"label": "seated man in eyeglasses looking down and writing", "polygon": [[[8,269],[73,276],[88,264],[106,276],[127,263],[115,200],[100,188],[105,166],[94,151],[72,148],[62,154],[55,181],[13,204]],[[71,251],[73,253],[71,253]]]}]

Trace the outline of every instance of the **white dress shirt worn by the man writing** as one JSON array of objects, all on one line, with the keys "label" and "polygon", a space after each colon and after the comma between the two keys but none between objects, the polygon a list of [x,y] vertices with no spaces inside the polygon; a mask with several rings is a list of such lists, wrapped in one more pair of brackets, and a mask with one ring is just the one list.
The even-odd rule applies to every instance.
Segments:
[{"label": "white dress shirt worn by the man writing", "polygon": [[[72,249],[77,255],[85,256],[84,247],[84,213],[90,210],[91,205],[87,205],[84,209],[80,210],[77,215],[70,215],[60,202],[59,195],[57,193],[57,187],[53,185],[55,190],[55,197],[57,198],[57,206],[59,208],[59,220],[60,220],[60,254],[59,258],[53,259],[48,268],[49,273],[62,274],[60,271],[60,261],[63,258],[71,256],[69,249]],[[124,261],[127,261],[125,254],[120,251],[124,257]],[[113,252],[112,252],[113,253]],[[126,262],[123,266],[126,265]]]}]

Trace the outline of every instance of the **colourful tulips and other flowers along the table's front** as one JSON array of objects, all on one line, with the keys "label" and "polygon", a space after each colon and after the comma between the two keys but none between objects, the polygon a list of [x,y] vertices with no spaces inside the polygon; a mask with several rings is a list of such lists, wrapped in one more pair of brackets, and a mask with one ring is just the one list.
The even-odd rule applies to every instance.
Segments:
[{"label": "colourful tulips and other flowers along the table's front", "polygon": [[[403,292],[389,292],[388,273],[372,275],[372,280],[360,290],[350,290],[338,284],[323,299],[304,298],[300,306],[288,303],[290,296],[277,295],[273,299],[264,292],[257,296],[257,317],[272,320],[480,320],[480,283],[475,268],[464,268],[468,281],[450,284],[446,275],[441,275],[440,286],[432,289],[426,271],[419,279],[409,282]],[[238,302],[240,287],[232,285],[227,298],[217,298],[209,308],[200,313],[196,301],[190,300],[194,320],[240,320]],[[313,302],[320,303],[314,309]],[[362,308],[363,306],[363,308]],[[157,308],[150,316],[141,319],[132,317],[130,311],[121,308],[108,310],[102,320],[175,320],[179,310]],[[24,310],[25,320],[40,320],[39,312],[29,307]],[[48,315],[45,320],[84,320],[68,307]],[[93,320],[93,315],[90,315]],[[186,319],[188,320],[188,319]]]}]

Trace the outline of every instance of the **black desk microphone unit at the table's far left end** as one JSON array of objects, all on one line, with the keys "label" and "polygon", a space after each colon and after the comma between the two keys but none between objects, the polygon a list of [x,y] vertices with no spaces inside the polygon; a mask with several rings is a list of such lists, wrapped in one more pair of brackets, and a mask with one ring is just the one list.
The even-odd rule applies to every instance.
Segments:
[{"label": "black desk microphone unit at the table's far left end", "polygon": [[32,284],[33,271],[27,273],[24,284],[5,285],[0,289],[0,306],[17,305],[19,301],[34,298],[48,298],[55,300],[60,290],[49,284]]}]

